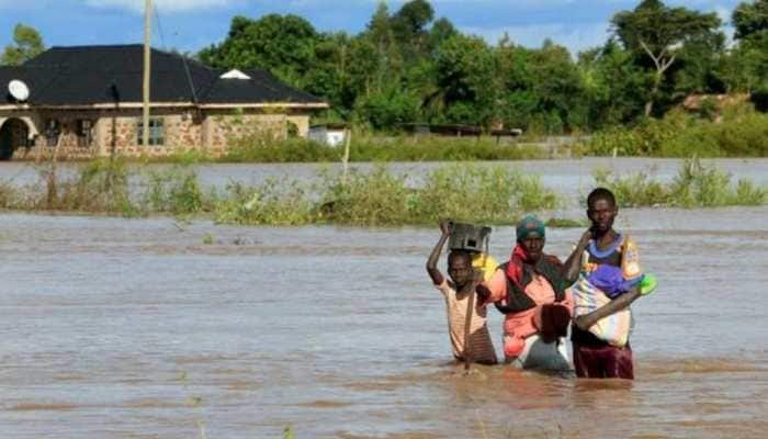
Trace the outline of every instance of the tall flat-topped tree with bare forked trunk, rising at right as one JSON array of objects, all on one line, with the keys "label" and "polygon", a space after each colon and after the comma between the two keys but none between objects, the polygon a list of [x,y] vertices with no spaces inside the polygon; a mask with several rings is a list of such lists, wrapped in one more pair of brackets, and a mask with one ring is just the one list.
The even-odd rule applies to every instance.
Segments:
[{"label": "tall flat-topped tree with bare forked trunk, rising at right", "polygon": [[643,0],[633,11],[613,15],[611,24],[626,49],[653,63],[653,80],[645,103],[648,116],[659,98],[665,72],[678,59],[679,52],[686,44],[716,38],[721,21],[715,13],[668,8],[659,0]]}]

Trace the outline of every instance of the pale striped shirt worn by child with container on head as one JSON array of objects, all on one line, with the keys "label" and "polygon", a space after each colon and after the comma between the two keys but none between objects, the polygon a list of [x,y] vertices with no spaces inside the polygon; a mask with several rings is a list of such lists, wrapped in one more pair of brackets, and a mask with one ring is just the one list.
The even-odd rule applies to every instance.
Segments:
[{"label": "pale striped shirt worn by child with container on head", "polygon": [[[453,356],[464,360],[464,326],[466,322],[466,307],[470,302],[470,294],[459,296],[452,282],[443,280],[440,285],[436,285],[445,299],[445,309],[448,311],[448,333],[451,336]],[[494,344],[488,334],[487,311],[484,305],[478,305],[475,297],[475,306],[472,313],[472,324],[470,326],[470,350],[473,362],[495,364],[497,363]]]}]

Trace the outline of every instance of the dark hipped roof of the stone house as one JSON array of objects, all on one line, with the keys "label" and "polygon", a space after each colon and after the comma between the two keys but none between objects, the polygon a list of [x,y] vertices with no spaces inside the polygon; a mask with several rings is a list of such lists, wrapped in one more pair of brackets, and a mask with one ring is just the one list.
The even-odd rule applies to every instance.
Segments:
[{"label": "dark hipped roof of the stone house", "polygon": [[[142,102],[144,47],[53,47],[22,66],[0,67],[0,87],[12,79],[30,88],[33,105],[89,105]],[[251,79],[223,79],[224,71],[179,54],[151,50],[150,100],[200,104],[297,103],[323,101],[280,82],[264,70],[248,70]],[[3,90],[4,91],[4,90]],[[5,91],[0,103],[13,99]]]}]

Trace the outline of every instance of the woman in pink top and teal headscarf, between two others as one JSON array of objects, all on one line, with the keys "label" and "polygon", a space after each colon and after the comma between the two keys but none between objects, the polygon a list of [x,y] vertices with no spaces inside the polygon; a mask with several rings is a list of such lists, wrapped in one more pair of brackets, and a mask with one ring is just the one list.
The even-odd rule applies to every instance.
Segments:
[{"label": "woman in pink top and teal headscarf, between two others", "polygon": [[573,299],[563,264],[544,254],[544,223],[533,215],[517,226],[517,245],[487,284],[478,286],[486,302],[506,315],[504,353],[524,369],[569,370],[565,336]]}]

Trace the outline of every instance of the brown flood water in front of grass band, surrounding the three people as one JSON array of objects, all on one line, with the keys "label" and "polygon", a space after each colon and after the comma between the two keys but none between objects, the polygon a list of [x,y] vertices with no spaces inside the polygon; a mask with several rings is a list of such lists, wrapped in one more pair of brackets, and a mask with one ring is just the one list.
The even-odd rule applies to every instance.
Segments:
[{"label": "brown flood water in front of grass band, surrounding the three people", "polygon": [[[423,269],[437,227],[0,213],[0,432],[763,438],[767,216],[621,211],[659,279],[633,306],[636,379],[622,382],[463,375]],[[547,230],[547,251],[565,256],[580,233]],[[497,259],[513,234],[494,229]],[[500,352],[501,319],[488,314]]]}]

